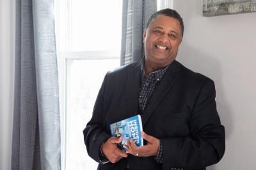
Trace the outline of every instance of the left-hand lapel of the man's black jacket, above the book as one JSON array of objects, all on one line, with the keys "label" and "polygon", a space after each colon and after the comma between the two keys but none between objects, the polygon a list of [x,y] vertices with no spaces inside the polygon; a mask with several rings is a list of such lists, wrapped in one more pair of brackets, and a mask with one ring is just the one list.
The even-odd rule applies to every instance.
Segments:
[{"label": "left-hand lapel of the man's black jacket, above the book", "polygon": [[127,117],[138,114],[138,95],[140,90],[140,62],[136,62],[128,73]]}]

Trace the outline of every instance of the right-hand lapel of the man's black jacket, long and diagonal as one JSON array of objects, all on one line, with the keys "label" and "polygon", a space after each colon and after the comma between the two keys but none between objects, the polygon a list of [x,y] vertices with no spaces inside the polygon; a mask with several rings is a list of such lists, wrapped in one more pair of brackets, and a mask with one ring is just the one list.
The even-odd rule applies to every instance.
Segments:
[{"label": "right-hand lapel of the man's black jacket, long and diagonal", "polygon": [[142,115],[143,125],[147,123],[148,118],[150,118],[150,115],[152,115],[157,105],[161,102],[166,93],[172,88],[173,83],[179,77],[179,69],[179,62],[174,60],[164,74],[162,80],[159,82],[156,91],[152,95],[149,103],[147,104],[147,108]]}]

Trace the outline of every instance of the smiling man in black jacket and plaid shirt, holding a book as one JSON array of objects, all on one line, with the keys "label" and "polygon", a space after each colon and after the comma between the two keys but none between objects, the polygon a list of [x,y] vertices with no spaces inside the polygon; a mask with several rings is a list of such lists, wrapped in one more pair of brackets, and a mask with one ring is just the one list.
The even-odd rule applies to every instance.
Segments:
[{"label": "smiling man in black jacket and plaid shirt, holding a book", "polygon": [[[214,82],[175,60],[184,25],[165,9],[143,33],[145,57],[106,74],[93,116],[84,129],[88,155],[98,169],[193,169],[216,164],[225,152],[225,130],[216,111]],[[126,152],[109,124],[140,114],[144,146]]]}]

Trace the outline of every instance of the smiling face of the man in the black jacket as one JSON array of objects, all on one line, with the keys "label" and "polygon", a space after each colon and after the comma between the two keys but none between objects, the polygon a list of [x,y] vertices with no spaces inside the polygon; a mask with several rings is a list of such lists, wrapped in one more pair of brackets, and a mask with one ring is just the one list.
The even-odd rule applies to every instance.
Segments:
[{"label": "smiling face of the man in the black jacket", "polygon": [[143,33],[146,63],[164,67],[175,60],[182,41],[179,20],[158,15]]}]

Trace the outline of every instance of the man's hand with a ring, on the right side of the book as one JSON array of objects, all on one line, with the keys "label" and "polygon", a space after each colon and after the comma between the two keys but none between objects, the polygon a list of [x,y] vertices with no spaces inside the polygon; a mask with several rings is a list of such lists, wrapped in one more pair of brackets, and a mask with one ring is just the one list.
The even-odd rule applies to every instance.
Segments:
[{"label": "man's hand with a ring, on the right side of the book", "polygon": [[136,146],[132,139],[127,139],[127,145],[124,145],[126,153],[130,153],[136,157],[150,157],[157,155],[160,144],[159,139],[149,136],[145,132],[141,132],[141,137],[147,141],[147,145]]}]

